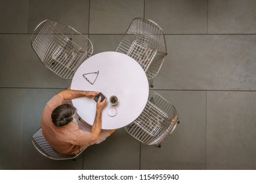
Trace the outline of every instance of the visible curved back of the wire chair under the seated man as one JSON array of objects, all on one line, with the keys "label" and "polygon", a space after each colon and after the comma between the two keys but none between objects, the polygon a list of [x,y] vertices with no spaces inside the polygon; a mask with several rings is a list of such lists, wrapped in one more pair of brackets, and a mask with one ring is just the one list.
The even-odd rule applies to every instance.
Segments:
[{"label": "visible curved back of the wire chair under the seated man", "polygon": [[60,154],[59,152],[54,150],[51,144],[49,144],[45,137],[43,137],[43,132],[41,128],[35,131],[35,133],[32,135],[32,144],[35,146],[38,152],[43,154],[43,156],[54,160],[74,159],[79,156],[81,152],[83,152],[81,151],[79,152],[79,154]]}]

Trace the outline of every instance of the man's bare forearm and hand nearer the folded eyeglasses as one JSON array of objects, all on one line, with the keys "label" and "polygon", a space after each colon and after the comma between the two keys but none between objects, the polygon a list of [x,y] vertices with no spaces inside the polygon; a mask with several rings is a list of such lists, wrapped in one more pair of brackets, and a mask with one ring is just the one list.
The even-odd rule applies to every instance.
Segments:
[{"label": "man's bare forearm and hand nearer the folded eyeglasses", "polygon": [[58,92],[58,95],[64,100],[75,99],[77,97],[95,97],[98,92],[93,91],[81,91],[81,90],[64,90]]}]

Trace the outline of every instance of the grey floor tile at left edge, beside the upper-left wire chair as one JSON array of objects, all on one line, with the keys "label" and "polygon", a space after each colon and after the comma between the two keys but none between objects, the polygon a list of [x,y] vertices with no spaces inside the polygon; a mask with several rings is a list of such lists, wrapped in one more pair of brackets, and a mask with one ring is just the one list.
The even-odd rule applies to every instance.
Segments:
[{"label": "grey floor tile at left edge, beside the upper-left wire chair", "polygon": [[65,80],[50,71],[30,44],[31,35],[0,35],[0,87],[67,88]]}]

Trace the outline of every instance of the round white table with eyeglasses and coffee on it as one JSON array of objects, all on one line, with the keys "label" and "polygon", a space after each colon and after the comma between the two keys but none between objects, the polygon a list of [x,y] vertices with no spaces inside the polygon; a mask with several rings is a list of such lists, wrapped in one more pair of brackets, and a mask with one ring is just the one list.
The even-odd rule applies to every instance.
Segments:
[{"label": "round white table with eyeglasses and coffee on it", "polygon": [[[87,79],[84,74],[87,74]],[[142,67],[133,58],[119,52],[102,52],[84,61],[75,72],[71,89],[102,92],[107,97],[102,110],[102,129],[117,129],[133,122],[146,106],[149,92],[148,79]],[[118,98],[115,106],[109,101],[112,95]],[[93,125],[95,100],[79,97],[72,99],[72,103],[77,114]]]}]

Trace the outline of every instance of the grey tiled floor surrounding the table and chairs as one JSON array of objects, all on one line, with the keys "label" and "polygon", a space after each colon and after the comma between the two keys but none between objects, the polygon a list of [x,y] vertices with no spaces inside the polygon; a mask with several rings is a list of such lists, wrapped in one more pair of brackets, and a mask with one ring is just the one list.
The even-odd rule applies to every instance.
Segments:
[{"label": "grey tiled floor surrounding the table and chairs", "polygon": [[[0,0],[0,169],[256,169],[256,1]],[[135,17],[157,22],[168,55],[154,88],[181,124],[161,148],[125,129],[76,161],[53,161],[32,146],[41,112],[71,80],[58,78],[30,38],[52,18],[89,35],[94,53],[114,51]]]}]

